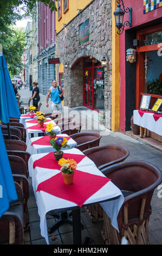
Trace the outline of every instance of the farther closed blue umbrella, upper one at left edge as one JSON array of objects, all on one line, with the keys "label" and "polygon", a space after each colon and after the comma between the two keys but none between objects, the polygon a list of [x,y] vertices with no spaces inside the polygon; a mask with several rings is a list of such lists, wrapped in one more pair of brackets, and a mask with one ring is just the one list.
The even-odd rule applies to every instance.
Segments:
[{"label": "farther closed blue umbrella, upper one at left edge", "polygon": [[9,117],[20,119],[20,115],[7,63],[0,53],[0,120],[8,124]]}]

